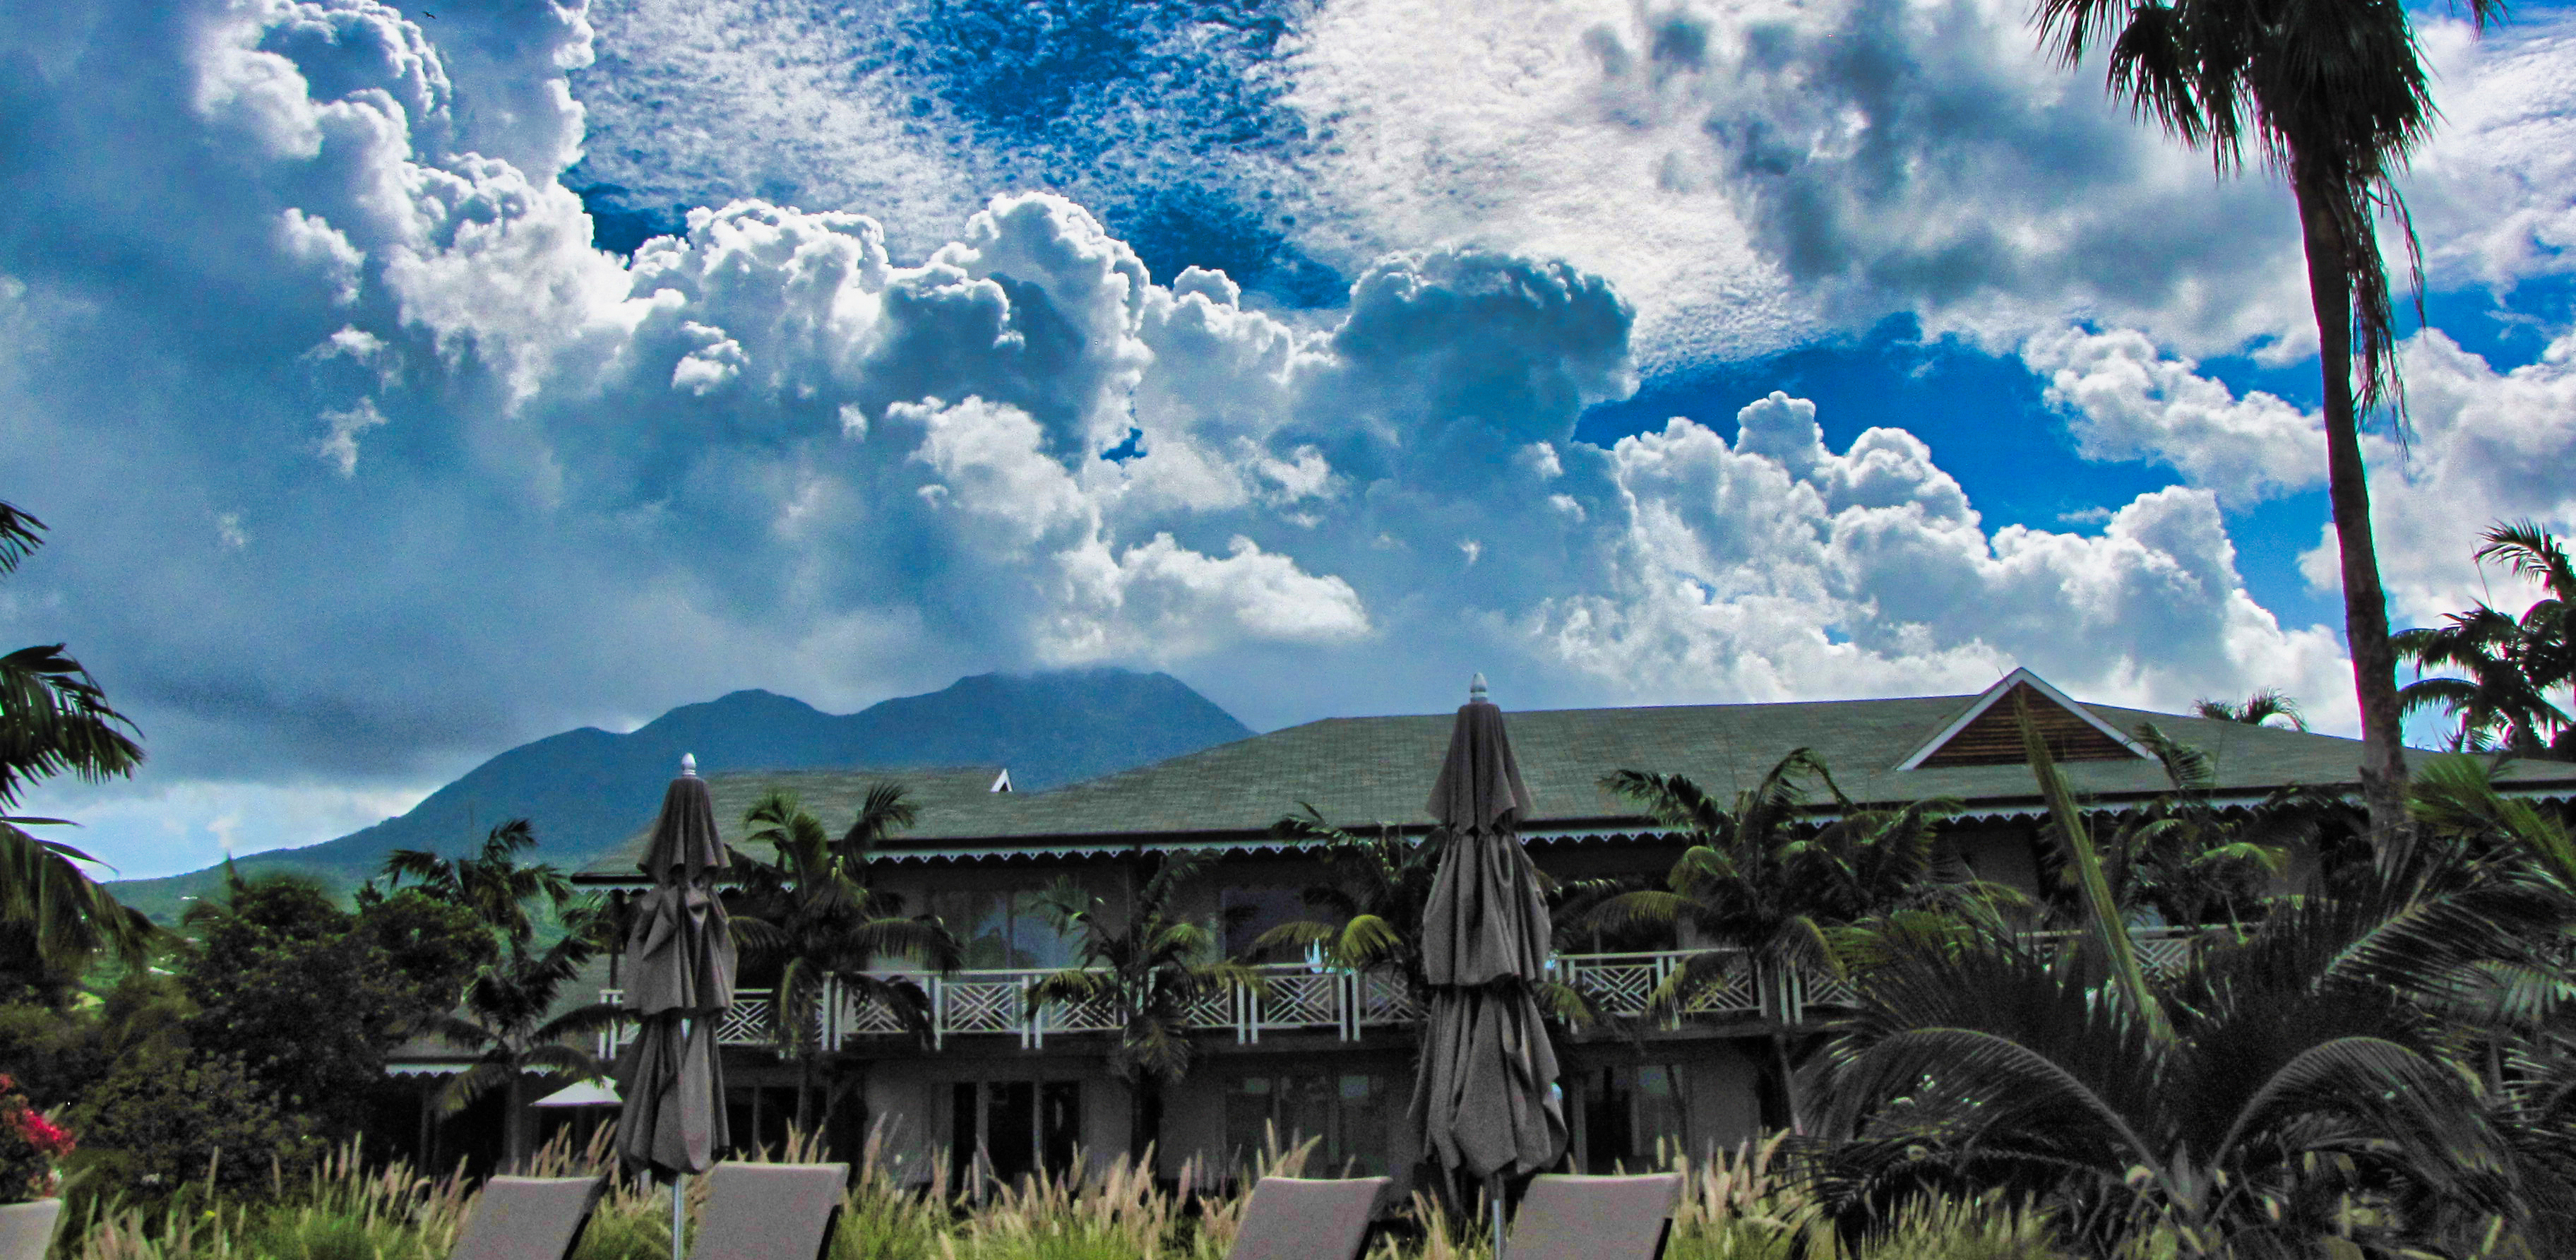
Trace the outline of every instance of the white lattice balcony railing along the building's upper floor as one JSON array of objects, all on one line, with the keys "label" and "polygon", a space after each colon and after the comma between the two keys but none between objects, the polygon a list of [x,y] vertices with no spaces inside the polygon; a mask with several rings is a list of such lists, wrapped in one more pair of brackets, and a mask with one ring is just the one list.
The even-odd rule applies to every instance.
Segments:
[{"label": "white lattice balcony railing along the building's upper floor", "polygon": [[[2190,959],[2190,930],[2138,933],[2138,961],[2151,971],[2174,971]],[[1700,953],[1718,953],[1721,979],[1703,987],[1680,1010],[1680,1020],[1747,1018],[1762,1010],[1788,1010],[1808,1005],[1850,1005],[1852,982],[1829,971],[1801,969],[1788,977],[1788,995],[1762,1002],[1762,982],[1741,951],[1656,951],[1656,953],[1561,953],[1551,959],[1556,979],[1574,984],[1592,1002],[1623,1018],[1646,1015],[1651,995],[1682,964]],[[1368,1028],[1394,1028],[1417,1023],[1422,1007],[1404,992],[1404,982],[1388,974],[1352,974],[1303,964],[1257,966],[1262,989],[1221,992],[1190,1010],[1190,1026],[1200,1031],[1231,1031],[1239,1044],[1257,1044],[1262,1033],[1332,1031],[1342,1041],[1360,1041]],[[907,977],[930,995],[930,1038],[945,1046],[953,1036],[1015,1036],[1023,1049],[1046,1046],[1048,1036],[1113,1033],[1118,1013],[1108,1002],[1030,1002],[1028,989],[1054,974],[1051,969],[984,969],[984,971],[884,971]],[[600,989],[603,1002],[618,1002],[618,989]],[[878,1002],[863,1000],[840,982],[827,982],[822,1000],[806,1013],[806,1038],[822,1046],[845,1046],[853,1038],[894,1036],[904,1026]],[[734,1007],[724,1013],[716,1038],[724,1046],[778,1046],[778,1005],[770,989],[737,989]],[[600,1054],[634,1036],[631,1026],[600,1033]]]}]

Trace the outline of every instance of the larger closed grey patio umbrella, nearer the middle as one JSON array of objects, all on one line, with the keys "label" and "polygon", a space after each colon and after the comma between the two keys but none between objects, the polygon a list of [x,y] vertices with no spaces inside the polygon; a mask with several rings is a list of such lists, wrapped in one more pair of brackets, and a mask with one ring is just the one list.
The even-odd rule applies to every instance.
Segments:
[{"label": "larger closed grey patio umbrella, nearer the middle", "polygon": [[1548,902],[1517,835],[1530,809],[1502,709],[1476,675],[1430,799],[1448,848],[1422,912],[1430,1013],[1412,1123],[1430,1160],[1486,1185],[1497,1250],[1502,1180],[1540,1172],[1566,1149],[1556,1049],[1535,997],[1548,964]]}]

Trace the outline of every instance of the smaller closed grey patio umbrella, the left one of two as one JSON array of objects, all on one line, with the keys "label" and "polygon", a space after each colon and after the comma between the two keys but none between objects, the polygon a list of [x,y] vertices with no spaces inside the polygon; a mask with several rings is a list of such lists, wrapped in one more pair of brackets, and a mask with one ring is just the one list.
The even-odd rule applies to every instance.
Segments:
[{"label": "smaller closed grey patio umbrella, the left one of two", "polygon": [[680,1190],[716,1162],[724,1134],[724,1067],[716,1028],[734,1005],[734,935],[716,899],[729,866],[716,837],[716,801],[698,758],[662,794],[644,845],[652,879],[626,930],[626,1010],[636,1015],[618,1095],[618,1154],[629,1170],[670,1178],[670,1245],[680,1255]]}]

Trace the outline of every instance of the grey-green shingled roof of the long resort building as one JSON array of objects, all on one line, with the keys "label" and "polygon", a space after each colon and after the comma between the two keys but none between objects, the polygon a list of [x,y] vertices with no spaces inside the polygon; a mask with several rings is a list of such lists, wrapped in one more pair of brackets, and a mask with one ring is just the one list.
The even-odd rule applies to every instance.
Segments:
[{"label": "grey-green shingled roof of the long resort building", "polygon": [[[1940,758],[1929,758],[1932,765],[1899,768],[2022,678],[2014,673],[1978,696],[1507,714],[1512,750],[1538,804],[1522,835],[1584,840],[1646,830],[1643,817],[1600,788],[1610,770],[1685,773],[1710,791],[1734,794],[1798,747],[1816,750],[1855,801],[1955,796],[1971,817],[2038,814],[2043,804],[2027,765],[1937,765]],[[2056,696],[2053,688],[2048,693]],[[2218,776],[2213,791],[2223,801],[2254,801],[2280,786],[2354,788],[2362,760],[2357,740],[2334,734],[2102,703],[2084,709],[2117,732],[2154,721],[2164,734],[2205,750]],[[871,783],[902,781],[920,807],[920,825],[878,848],[891,861],[1084,855],[1136,845],[1275,848],[1270,825],[1303,804],[1345,827],[1427,827],[1422,801],[1448,750],[1450,724],[1450,714],[1324,719],[1025,794],[989,791],[997,768],[719,773],[711,788],[726,840],[739,840],[742,812],[762,791],[796,791],[837,825],[855,814]],[[2079,794],[2102,807],[2166,788],[2164,770],[2133,755],[2074,760],[2063,770]],[[2576,765],[2522,760],[2499,783],[2568,799],[2576,796]],[[641,832],[629,850],[641,850]],[[582,879],[636,879],[634,853],[600,858]]]}]

